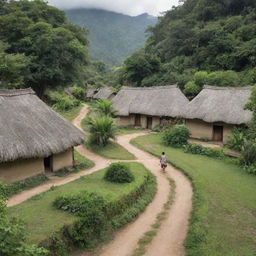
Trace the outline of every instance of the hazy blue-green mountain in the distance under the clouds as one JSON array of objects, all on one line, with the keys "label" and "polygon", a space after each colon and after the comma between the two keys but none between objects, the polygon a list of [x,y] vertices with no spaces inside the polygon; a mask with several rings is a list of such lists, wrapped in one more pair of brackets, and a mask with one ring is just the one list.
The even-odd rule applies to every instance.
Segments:
[{"label": "hazy blue-green mountain in the distance under the clouds", "polygon": [[66,14],[71,22],[88,28],[91,57],[110,65],[120,65],[143,47],[145,30],[157,22],[148,14],[131,17],[97,9],[67,10]]}]

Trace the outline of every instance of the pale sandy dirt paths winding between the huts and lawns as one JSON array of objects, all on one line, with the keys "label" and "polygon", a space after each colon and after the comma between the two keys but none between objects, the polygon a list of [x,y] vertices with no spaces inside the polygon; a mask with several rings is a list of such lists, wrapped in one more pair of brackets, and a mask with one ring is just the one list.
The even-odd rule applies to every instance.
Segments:
[{"label": "pale sandy dirt paths winding between the huts and lawns", "polygon": [[[74,119],[73,124],[81,129],[80,123],[88,113],[88,106],[84,106],[80,114]],[[148,168],[157,178],[157,193],[153,201],[149,204],[146,210],[131,224],[128,224],[120,231],[116,232],[114,239],[108,244],[102,246],[94,255],[97,256],[129,256],[137,247],[138,240],[142,235],[151,229],[156,216],[162,211],[164,203],[167,201],[170,192],[170,184],[167,179],[168,175],[176,183],[176,193],[174,203],[169,211],[167,219],[163,222],[158,230],[157,236],[149,245],[146,256],[183,256],[185,249],[183,242],[186,238],[188,230],[188,220],[192,209],[192,186],[188,179],[172,166],[168,166],[167,173],[162,173],[160,170],[159,159],[152,155],[139,150],[130,144],[130,140],[143,133],[122,135],[117,138],[117,142],[125,147],[128,151],[134,154],[137,162],[142,163]],[[111,162],[116,162],[102,158],[88,151],[83,146],[79,146],[76,150],[85,155],[87,158],[95,162],[95,166],[90,170],[82,171],[78,174],[70,175],[65,178],[54,178],[48,183],[37,188],[24,191],[13,196],[8,201],[8,206],[19,204],[33,195],[47,191],[51,186],[59,186],[69,183],[81,176],[90,174],[97,170],[107,167]],[[91,253],[76,252],[73,255],[87,256]]]}]

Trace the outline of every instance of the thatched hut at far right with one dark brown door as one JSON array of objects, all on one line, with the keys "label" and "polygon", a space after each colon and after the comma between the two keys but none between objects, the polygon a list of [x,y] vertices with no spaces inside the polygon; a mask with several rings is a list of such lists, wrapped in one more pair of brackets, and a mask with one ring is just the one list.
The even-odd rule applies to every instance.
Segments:
[{"label": "thatched hut at far right with one dark brown door", "polygon": [[191,137],[226,143],[234,126],[251,120],[252,112],[244,109],[250,95],[251,87],[205,85],[184,112]]}]

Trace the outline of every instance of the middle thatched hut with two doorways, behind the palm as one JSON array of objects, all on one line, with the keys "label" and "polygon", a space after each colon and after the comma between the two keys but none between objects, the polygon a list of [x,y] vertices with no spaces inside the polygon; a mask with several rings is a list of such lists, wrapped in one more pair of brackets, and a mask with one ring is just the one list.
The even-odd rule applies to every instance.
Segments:
[{"label": "middle thatched hut with two doorways, behind the palm", "polygon": [[183,116],[188,99],[176,85],[123,87],[112,100],[118,124],[154,128],[170,118]]}]

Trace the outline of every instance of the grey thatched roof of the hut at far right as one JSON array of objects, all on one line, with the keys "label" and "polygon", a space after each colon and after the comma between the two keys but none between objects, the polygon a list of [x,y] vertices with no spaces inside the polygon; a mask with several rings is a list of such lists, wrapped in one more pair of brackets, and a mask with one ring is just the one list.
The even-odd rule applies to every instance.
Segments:
[{"label": "grey thatched roof of the hut at far right", "polygon": [[204,89],[187,105],[185,117],[205,122],[244,124],[251,120],[252,112],[244,110],[252,87],[215,87]]}]

